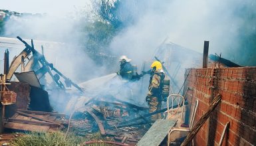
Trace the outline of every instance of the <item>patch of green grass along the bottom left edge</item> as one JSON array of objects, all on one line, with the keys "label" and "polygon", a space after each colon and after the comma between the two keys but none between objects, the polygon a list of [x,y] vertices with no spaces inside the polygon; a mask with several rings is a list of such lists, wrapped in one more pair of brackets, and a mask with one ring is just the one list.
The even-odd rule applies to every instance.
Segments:
[{"label": "patch of green grass along the bottom left edge", "polygon": [[[52,132],[52,133],[27,133],[21,137],[17,137],[11,141],[11,145],[15,146],[70,146],[80,145],[84,141],[92,140],[109,140],[102,137],[100,133],[93,133],[86,135],[86,137],[78,137],[69,134],[66,138],[63,132]],[[93,144],[105,146],[106,144]]]}]

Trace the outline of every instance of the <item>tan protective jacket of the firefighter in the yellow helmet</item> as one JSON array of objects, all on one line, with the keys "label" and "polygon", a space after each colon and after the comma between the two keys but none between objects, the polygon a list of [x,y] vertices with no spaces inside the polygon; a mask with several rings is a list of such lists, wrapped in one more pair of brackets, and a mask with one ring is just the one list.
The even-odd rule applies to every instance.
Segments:
[{"label": "tan protective jacket of the firefighter in the yellow helmet", "polygon": [[162,91],[164,86],[164,71],[156,70],[150,76],[150,85],[148,86],[148,97],[157,97],[158,100],[162,99]]}]

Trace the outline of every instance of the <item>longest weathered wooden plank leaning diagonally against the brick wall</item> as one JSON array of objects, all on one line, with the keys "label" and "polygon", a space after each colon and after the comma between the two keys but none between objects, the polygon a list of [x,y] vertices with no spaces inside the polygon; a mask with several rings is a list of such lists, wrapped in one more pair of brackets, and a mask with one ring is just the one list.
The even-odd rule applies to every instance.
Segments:
[{"label": "longest weathered wooden plank leaning diagonally against the brick wall", "polygon": [[221,95],[217,94],[217,96],[215,96],[215,98],[213,99],[213,102],[211,102],[206,113],[204,113],[199,119],[199,121],[197,121],[195,126],[192,128],[190,134],[186,137],[186,139],[184,140],[181,146],[186,146],[190,143],[190,141],[192,141],[193,137],[195,137],[199,129],[201,129],[205,121],[208,119],[208,117],[211,115],[211,113],[217,107],[220,101],[221,101]]}]

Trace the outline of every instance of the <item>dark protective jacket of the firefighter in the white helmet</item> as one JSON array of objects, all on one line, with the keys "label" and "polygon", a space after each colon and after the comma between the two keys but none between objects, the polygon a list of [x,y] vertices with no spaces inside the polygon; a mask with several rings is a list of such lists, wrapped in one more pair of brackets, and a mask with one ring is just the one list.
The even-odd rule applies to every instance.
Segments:
[{"label": "dark protective jacket of the firefighter in the white helmet", "polygon": [[132,64],[130,62],[122,62],[120,64],[120,70],[118,72],[122,78],[131,80],[132,79]]}]

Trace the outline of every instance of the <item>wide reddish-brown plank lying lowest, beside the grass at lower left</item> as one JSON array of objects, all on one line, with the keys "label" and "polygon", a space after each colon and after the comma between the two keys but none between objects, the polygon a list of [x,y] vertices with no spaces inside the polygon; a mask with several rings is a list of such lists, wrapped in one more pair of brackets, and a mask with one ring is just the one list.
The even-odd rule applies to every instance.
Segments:
[{"label": "wide reddish-brown plank lying lowest, beside the grass at lower left", "polygon": [[49,131],[50,126],[8,122],[8,123],[5,124],[5,128],[40,132],[40,131]]}]

